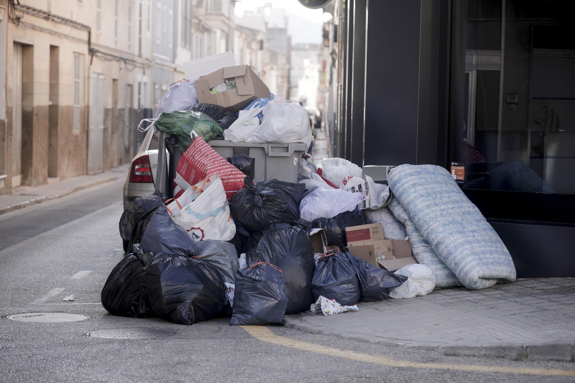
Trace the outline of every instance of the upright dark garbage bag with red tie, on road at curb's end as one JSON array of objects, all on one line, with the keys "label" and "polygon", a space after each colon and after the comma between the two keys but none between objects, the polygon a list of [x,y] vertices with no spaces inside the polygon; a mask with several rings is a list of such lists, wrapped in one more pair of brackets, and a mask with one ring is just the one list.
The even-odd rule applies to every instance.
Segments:
[{"label": "upright dark garbage bag with red tie, on road at curb's end", "polygon": [[282,324],[287,307],[282,270],[266,262],[237,271],[230,325]]}]

